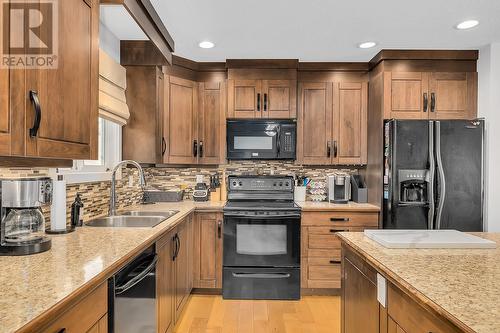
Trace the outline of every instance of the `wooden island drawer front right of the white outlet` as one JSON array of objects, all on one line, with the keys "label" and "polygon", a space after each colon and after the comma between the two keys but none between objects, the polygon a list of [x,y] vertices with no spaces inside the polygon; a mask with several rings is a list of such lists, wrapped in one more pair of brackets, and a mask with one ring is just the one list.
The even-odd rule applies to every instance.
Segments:
[{"label": "wooden island drawer front right of the white outlet", "polygon": [[404,331],[412,333],[461,332],[422,308],[393,284],[388,284],[387,287],[387,312]]}]

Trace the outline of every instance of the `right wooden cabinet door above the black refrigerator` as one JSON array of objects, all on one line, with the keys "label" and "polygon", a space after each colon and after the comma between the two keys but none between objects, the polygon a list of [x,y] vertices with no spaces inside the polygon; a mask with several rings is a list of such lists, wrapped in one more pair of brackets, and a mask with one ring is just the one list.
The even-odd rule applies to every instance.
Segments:
[{"label": "right wooden cabinet door above the black refrigerator", "polygon": [[477,116],[477,73],[432,73],[429,117],[474,119]]}]

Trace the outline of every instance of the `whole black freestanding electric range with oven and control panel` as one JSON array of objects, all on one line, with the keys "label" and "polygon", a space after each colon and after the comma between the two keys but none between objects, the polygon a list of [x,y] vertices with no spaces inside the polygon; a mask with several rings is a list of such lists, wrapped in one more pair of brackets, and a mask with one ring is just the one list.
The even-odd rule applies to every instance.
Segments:
[{"label": "whole black freestanding electric range with oven and control panel", "polygon": [[300,208],[293,177],[229,176],[224,207],[226,299],[300,298]]}]

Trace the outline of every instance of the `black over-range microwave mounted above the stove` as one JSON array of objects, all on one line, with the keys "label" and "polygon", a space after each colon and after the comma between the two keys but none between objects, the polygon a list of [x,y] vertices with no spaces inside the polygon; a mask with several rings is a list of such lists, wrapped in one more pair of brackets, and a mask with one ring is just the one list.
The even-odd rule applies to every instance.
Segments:
[{"label": "black over-range microwave mounted above the stove", "polygon": [[228,120],[229,160],[295,160],[295,120]]}]

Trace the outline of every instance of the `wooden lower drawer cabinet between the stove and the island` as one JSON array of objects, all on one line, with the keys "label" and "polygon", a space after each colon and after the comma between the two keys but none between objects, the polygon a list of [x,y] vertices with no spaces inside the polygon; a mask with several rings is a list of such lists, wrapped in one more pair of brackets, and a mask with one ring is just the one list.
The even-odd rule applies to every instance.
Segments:
[{"label": "wooden lower drawer cabinet between the stove and the island", "polygon": [[302,213],[302,288],[340,289],[341,242],[336,233],[377,227],[377,212]]}]

